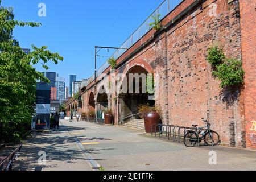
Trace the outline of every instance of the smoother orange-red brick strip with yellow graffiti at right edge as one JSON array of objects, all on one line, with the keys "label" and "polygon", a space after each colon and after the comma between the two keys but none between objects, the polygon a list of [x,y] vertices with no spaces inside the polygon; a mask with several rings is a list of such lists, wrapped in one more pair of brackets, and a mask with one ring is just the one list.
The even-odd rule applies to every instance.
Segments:
[{"label": "smoother orange-red brick strip with yellow graffiti at right edge", "polygon": [[256,148],[256,2],[240,0],[246,147]]}]

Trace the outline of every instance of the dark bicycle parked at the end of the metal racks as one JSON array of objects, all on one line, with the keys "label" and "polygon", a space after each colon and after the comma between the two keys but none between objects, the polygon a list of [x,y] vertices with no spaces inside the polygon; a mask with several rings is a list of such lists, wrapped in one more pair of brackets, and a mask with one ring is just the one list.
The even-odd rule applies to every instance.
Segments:
[{"label": "dark bicycle parked at the end of the metal racks", "polygon": [[198,125],[192,125],[195,129],[188,131],[184,135],[184,144],[187,147],[193,147],[196,143],[200,143],[202,140],[208,145],[216,145],[220,141],[220,136],[216,131],[210,130],[210,123],[207,120],[203,120],[207,123],[207,126],[197,127]]}]

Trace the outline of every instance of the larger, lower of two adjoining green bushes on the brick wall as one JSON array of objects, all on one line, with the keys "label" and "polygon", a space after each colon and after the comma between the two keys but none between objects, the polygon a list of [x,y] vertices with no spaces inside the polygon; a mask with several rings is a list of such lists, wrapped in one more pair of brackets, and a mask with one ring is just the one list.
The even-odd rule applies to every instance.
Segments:
[{"label": "larger, lower of two adjoining green bushes on the brick wall", "polygon": [[221,88],[243,84],[245,72],[243,71],[242,62],[240,60],[228,59],[226,63],[217,65],[216,69],[217,71],[213,71],[213,75],[221,80]]}]

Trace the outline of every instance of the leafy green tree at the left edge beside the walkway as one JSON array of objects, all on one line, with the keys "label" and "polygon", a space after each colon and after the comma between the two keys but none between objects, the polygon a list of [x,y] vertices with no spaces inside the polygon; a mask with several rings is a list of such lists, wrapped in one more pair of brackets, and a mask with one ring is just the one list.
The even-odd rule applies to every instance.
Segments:
[{"label": "leafy green tree at the left edge beside the walkway", "polygon": [[55,64],[63,61],[59,53],[48,51],[47,46],[32,45],[32,51],[24,53],[13,38],[16,26],[40,27],[41,24],[14,20],[13,9],[3,7],[0,0],[0,125],[6,142],[28,135],[35,113],[36,82],[49,82],[33,66],[39,63],[47,70],[48,61]]}]

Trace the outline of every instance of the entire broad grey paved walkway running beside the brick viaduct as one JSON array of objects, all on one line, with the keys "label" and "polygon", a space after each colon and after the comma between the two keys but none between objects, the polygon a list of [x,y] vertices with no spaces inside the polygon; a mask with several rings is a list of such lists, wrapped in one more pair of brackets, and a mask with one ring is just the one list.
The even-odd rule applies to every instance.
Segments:
[{"label": "entire broad grey paved walkway running beside the brick viaduct", "polygon": [[[40,150],[47,153],[45,166],[37,162]],[[216,152],[217,164],[209,164],[210,151]],[[15,169],[91,170],[97,164],[114,171],[256,169],[253,151],[222,146],[187,148],[137,130],[84,121],[61,121],[59,132],[38,134],[24,146],[19,159]]]}]

